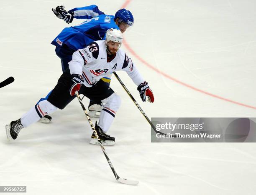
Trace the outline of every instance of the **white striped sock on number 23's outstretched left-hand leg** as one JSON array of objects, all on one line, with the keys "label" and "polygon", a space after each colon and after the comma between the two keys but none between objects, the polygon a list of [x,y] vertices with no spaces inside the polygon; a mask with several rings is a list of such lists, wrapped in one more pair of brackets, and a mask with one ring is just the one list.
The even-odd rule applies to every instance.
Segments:
[{"label": "white striped sock on number 23's outstretched left-hand leg", "polygon": [[20,118],[20,122],[24,128],[28,127],[32,123],[38,121],[41,117],[51,114],[54,111],[56,111],[57,109],[58,108],[56,106],[52,105],[47,100],[43,100],[41,102],[38,102],[37,105],[35,105],[27,113],[25,113]]}]

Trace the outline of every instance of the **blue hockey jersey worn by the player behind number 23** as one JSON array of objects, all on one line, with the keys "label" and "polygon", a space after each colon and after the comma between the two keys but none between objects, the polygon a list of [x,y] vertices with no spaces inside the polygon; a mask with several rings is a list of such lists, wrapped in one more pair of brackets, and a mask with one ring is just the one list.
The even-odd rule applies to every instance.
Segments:
[{"label": "blue hockey jersey worn by the player behind number 23", "polygon": [[61,47],[67,45],[72,50],[82,49],[92,41],[104,40],[110,28],[118,28],[113,15],[105,15],[96,5],[74,8],[74,18],[86,19],[83,23],[64,28],[51,44]]}]

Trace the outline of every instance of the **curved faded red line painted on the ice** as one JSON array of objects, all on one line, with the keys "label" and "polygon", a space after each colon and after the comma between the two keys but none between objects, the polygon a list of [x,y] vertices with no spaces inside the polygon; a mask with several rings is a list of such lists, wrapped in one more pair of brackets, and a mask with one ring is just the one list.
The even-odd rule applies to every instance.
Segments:
[{"label": "curved faded red line painted on the ice", "polygon": [[[124,2],[124,4],[121,6],[121,8],[125,8],[127,7],[127,5],[131,2],[131,0],[126,0]],[[155,72],[157,72],[158,74],[160,75],[163,75],[164,77],[168,78],[169,80],[172,80],[174,82],[177,82],[179,83],[180,85],[183,85],[185,87],[188,87],[192,90],[195,90],[197,92],[200,92],[200,93],[203,93],[205,95],[209,95],[211,97],[215,97],[215,98],[218,98],[220,100],[224,100],[226,102],[231,102],[233,104],[236,104],[236,105],[241,105],[241,106],[244,106],[244,107],[249,107],[249,108],[252,108],[252,109],[256,109],[256,107],[254,106],[251,106],[251,105],[246,105],[246,104],[243,104],[241,102],[236,102],[234,100],[230,100],[230,99],[227,99],[225,97],[221,97],[219,95],[215,95],[215,94],[212,94],[210,92],[207,92],[207,91],[204,91],[204,90],[200,90],[198,89],[197,87],[193,87],[192,85],[189,85],[185,82],[182,82],[174,77],[171,77],[170,75],[167,75],[166,73],[162,72],[161,70],[158,70],[156,67],[152,66],[151,64],[149,64],[148,62],[146,62],[145,60],[143,60],[143,58],[141,58],[135,51],[133,51],[133,49],[130,47],[130,45],[125,41],[125,39],[123,39],[123,45],[125,45],[125,47],[128,49],[129,52],[131,52],[131,54],[136,57],[139,61],[141,61],[144,65],[146,65],[147,67],[151,68],[152,70],[154,70]]]}]

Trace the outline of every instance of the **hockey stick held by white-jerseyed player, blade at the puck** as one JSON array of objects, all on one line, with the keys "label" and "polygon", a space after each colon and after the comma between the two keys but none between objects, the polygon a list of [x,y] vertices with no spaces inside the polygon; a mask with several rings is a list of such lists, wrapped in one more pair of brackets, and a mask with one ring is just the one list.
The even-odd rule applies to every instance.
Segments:
[{"label": "hockey stick held by white-jerseyed player, blade at the puck", "polygon": [[113,165],[112,165],[110,159],[108,158],[108,155],[107,155],[107,153],[106,153],[106,150],[105,150],[105,148],[103,147],[103,145],[102,145],[102,143],[101,143],[101,141],[100,141],[100,138],[99,138],[99,136],[98,136],[98,134],[97,134],[97,131],[95,130],[94,125],[92,124],[92,120],[90,119],[90,117],[89,117],[89,115],[88,115],[88,112],[87,112],[86,108],[84,107],[84,104],[82,103],[81,98],[79,97],[78,92],[76,91],[75,94],[77,95],[77,99],[79,100],[80,105],[82,106],[82,109],[84,110],[84,114],[86,115],[87,120],[88,120],[88,122],[90,123],[91,128],[92,128],[92,130],[93,130],[93,133],[94,133],[95,137],[96,137],[97,140],[98,140],[98,143],[99,143],[99,145],[100,145],[100,148],[101,148],[102,152],[104,153],[104,155],[105,155],[105,157],[106,157],[106,159],[107,159],[107,161],[108,161],[108,164],[110,165],[110,168],[111,168],[111,170],[113,171],[113,173],[114,173],[114,175],[115,175],[115,179],[118,180],[120,183],[124,183],[124,184],[128,184],[128,185],[137,185],[137,184],[138,184],[138,181],[126,180],[126,179],[120,178],[120,177],[118,176],[118,174],[115,172],[115,169],[114,169],[114,167],[113,167]]}]

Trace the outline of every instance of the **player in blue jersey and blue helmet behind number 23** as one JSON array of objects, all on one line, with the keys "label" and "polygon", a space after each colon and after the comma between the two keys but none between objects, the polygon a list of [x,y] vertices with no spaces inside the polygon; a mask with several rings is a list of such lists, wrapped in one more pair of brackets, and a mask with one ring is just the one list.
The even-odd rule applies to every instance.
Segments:
[{"label": "player in blue jersey and blue helmet behind number 23", "polygon": [[[62,71],[68,67],[68,62],[72,60],[72,54],[78,49],[87,46],[95,40],[105,40],[105,33],[108,29],[119,29],[122,33],[134,23],[133,15],[129,10],[120,9],[113,15],[105,15],[96,5],[86,7],[76,7],[66,11],[63,5],[52,9],[54,14],[66,23],[72,23],[74,18],[86,19],[83,23],[64,28],[61,33],[51,42],[56,46],[56,55],[61,59]],[[102,78],[103,81],[110,83],[111,75]],[[44,100],[42,98],[41,100]],[[90,101],[88,106],[91,117],[99,117],[102,105],[97,105]],[[51,117],[46,115],[41,118],[41,122],[50,122]]]}]

